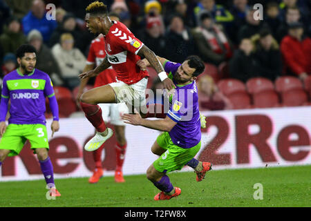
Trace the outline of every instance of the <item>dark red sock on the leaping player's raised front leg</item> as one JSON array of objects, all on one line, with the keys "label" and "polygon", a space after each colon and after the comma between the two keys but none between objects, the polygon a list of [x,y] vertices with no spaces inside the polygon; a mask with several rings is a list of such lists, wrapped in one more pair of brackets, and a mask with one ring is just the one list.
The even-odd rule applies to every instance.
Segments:
[{"label": "dark red sock on the leaping player's raised front leg", "polygon": [[95,127],[96,131],[102,133],[106,131],[106,124],[102,119],[102,109],[98,105],[86,104],[80,102],[82,111],[85,113],[85,117]]}]

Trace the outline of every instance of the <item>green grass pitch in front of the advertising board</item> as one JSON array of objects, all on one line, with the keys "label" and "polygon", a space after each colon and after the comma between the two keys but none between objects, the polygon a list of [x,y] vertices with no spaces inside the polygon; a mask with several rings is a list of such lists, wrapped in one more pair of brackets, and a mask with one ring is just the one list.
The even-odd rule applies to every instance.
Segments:
[{"label": "green grass pitch in front of the advertising board", "polygon": [[[182,189],[178,198],[153,200],[158,189],[145,175],[125,176],[125,183],[103,177],[97,184],[88,178],[56,180],[62,197],[46,200],[44,180],[0,182],[3,206],[311,206],[311,166],[267,167],[210,171],[196,182],[190,172],[170,173],[174,186]],[[254,184],[263,184],[263,200],[254,200]]]}]

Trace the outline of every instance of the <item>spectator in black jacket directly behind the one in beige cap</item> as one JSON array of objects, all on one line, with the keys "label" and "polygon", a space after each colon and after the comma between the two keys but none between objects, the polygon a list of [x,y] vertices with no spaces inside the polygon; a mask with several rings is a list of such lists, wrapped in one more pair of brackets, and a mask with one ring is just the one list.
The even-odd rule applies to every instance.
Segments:
[{"label": "spectator in black jacket directly behind the one in beige cap", "polygon": [[75,40],[75,47],[79,48],[82,52],[85,52],[86,48],[90,44],[91,40],[88,41],[88,35],[86,32],[79,30],[77,26],[77,21],[75,19],[75,15],[68,12],[63,18],[62,24],[59,25],[53,32],[50,37],[50,41],[48,46],[52,48],[59,42],[60,37],[64,33],[70,33],[73,35],[73,39]]}]

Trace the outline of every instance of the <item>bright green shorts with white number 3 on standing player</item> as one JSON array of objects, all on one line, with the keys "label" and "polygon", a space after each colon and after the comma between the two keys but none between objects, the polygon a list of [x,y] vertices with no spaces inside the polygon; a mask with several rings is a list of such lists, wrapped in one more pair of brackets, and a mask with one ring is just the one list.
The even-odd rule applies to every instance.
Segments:
[{"label": "bright green shorts with white number 3 on standing player", "polygon": [[19,155],[26,140],[29,140],[32,149],[48,149],[46,126],[43,124],[9,124],[1,138],[0,149],[10,150],[9,157]]}]

